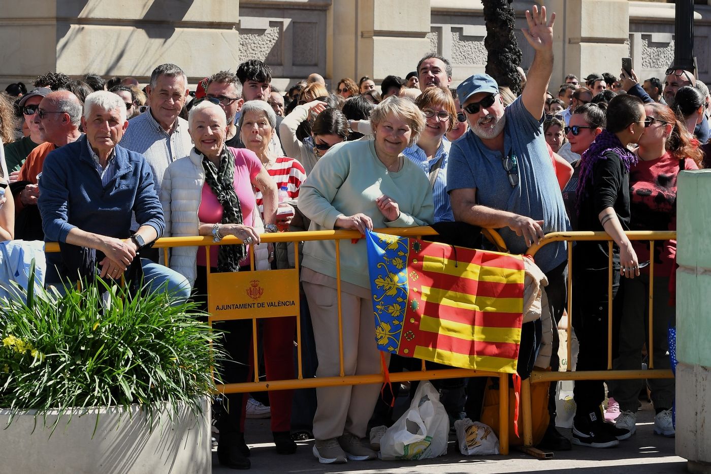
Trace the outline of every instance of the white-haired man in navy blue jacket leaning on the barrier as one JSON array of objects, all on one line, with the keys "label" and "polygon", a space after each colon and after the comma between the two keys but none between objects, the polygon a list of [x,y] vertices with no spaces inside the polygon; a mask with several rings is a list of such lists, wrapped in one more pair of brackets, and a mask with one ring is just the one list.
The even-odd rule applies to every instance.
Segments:
[{"label": "white-haired man in navy blue jacket leaning on the barrier", "polygon": [[[88,95],[85,137],[48,154],[39,183],[45,240],[95,249],[102,278],[121,278],[165,227],[151,167],[143,155],[118,145],[127,126],[126,106],[118,95],[104,90]],[[139,223],[135,233],[130,231],[132,211]],[[151,290],[167,283],[176,296],[190,295],[179,273],[145,258],[140,263]],[[48,254],[47,283],[76,279],[67,272],[61,256]]]}]

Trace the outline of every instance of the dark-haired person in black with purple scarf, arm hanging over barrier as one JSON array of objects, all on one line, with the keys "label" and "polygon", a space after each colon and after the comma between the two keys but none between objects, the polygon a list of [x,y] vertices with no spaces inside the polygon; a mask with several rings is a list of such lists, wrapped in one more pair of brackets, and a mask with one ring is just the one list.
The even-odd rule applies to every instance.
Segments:
[{"label": "dark-haired person in black with purple scarf, arm hanging over barrier", "polygon": [[[627,145],[638,141],[645,120],[641,100],[632,95],[613,98],[606,112],[606,129],[582,154],[580,164],[577,230],[605,231],[613,239],[613,299],[621,275],[639,276],[636,253],[624,234],[630,218],[629,168],[637,161]],[[579,371],[607,368],[608,248],[607,241],[582,241],[573,249],[572,324],[580,343]],[[602,380],[576,381],[574,399],[574,444],[609,448],[629,438],[629,430],[604,423]]]}]

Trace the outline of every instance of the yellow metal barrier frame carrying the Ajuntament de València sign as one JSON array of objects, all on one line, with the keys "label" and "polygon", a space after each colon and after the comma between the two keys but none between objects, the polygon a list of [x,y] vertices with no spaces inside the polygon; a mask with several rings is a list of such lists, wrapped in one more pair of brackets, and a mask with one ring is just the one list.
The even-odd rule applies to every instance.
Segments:
[{"label": "yellow metal barrier frame carrying the Ajuntament de Val\u00e8ncia sign", "polygon": [[[431,227],[410,227],[410,228],[380,228],[374,229],[379,233],[386,233],[397,236],[407,236],[413,238],[420,238],[422,236],[432,236],[437,235]],[[498,235],[493,229],[483,229],[483,235],[488,238],[493,244],[495,244],[501,251],[506,251],[506,243],[503,242],[501,236]],[[260,235],[260,239],[264,243],[277,243],[277,242],[299,242],[299,241],[326,241],[333,240],[336,241],[336,281],[337,281],[337,293],[338,293],[338,334],[339,334],[339,358],[340,358],[340,375],[332,377],[318,377],[318,378],[307,378],[304,379],[301,367],[301,322],[300,322],[300,307],[296,305],[294,308],[294,317],[296,317],[296,343],[297,343],[297,360],[298,360],[298,374],[296,379],[291,380],[273,380],[273,381],[260,381],[258,364],[255,362],[255,380],[252,382],[243,382],[238,384],[220,384],[217,386],[218,391],[222,393],[245,393],[250,391],[268,391],[268,390],[289,390],[289,389],[306,389],[315,388],[323,386],[342,386],[342,385],[357,385],[357,384],[383,384],[385,382],[385,374],[383,367],[380,369],[378,374],[358,374],[346,376],[343,369],[343,322],[341,320],[341,258],[340,258],[340,245],[342,240],[351,240],[355,238],[361,238],[361,234],[358,231],[306,231],[306,232],[284,232],[284,233],[264,233]],[[186,246],[218,246],[224,244],[234,244],[242,243],[242,241],[235,236],[226,236],[219,242],[214,242],[212,236],[195,236],[195,237],[166,237],[159,238],[154,243],[154,248],[163,248],[164,256],[167,257],[167,251],[169,248],[173,247],[186,247]],[[250,265],[252,270],[255,269],[255,255],[253,246],[252,252],[250,252]],[[58,243],[47,243],[45,250],[47,252],[57,252],[59,251]],[[294,246],[296,268],[299,267],[299,250],[298,246]],[[206,252],[207,266],[210,267],[209,252]],[[168,259],[166,258],[166,261]],[[283,271],[283,270],[272,270],[272,271]],[[287,270],[288,271],[288,270]],[[291,270],[293,271],[293,270]],[[209,270],[208,270],[209,273]],[[294,273],[296,274],[296,273]],[[297,275],[297,274],[296,274]],[[208,278],[208,293],[210,293],[210,279]],[[229,317],[214,317],[210,315],[209,321],[223,321],[234,318]],[[257,320],[261,319],[258,312],[253,312],[252,316],[252,344],[254,349],[254,360],[257,361]],[[375,334],[373,334],[375,337]],[[412,372],[397,372],[390,373],[389,378],[392,382],[400,381],[412,381],[412,380],[432,380],[432,379],[449,379],[453,377],[471,377],[471,376],[492,376],[498,377],[499,386],[504,387],[504,390],[500,391],[500,410],[499,410],[499,451],[501,454],[508,454],[509,451],[509,420],[508,420],[508,374],[501,374],[498,372],[481,372],[474,371],[470,369],[437,369],[437,370],[427,370],[425,368],[424,360],[422,361],[422,369],[419,371]]]}]

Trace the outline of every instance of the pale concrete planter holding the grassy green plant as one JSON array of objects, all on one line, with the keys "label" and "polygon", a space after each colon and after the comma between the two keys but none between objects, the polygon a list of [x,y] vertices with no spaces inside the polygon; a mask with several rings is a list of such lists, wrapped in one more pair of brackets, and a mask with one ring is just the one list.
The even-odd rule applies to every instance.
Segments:
[{"label": "pale concrete planter holding the grassy green plant", "polygon": [[[164,408],[161,423],[156,422],[151,431],[146,418],[138,406],[129,411],[115,407],[84,414],[77,411],[69,423],[69,416],[64,416],[50,436],[50,428],[44,428],[33,412],[16,416],[7,427],[9,411],[0,410],[0,470],[26,474],[212,473],[207,399],[203,416],[197,419],[185,407],[171,419]],[[56,413],[48,414],[46,425],[56,419]]]}]

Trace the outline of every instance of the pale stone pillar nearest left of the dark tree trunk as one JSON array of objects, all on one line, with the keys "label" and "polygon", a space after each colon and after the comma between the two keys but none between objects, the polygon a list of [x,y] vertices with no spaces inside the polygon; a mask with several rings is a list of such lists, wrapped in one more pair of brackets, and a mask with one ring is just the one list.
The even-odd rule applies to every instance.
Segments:
[{"label": "pale stone pillar nearest left of the dark tree trunk", "polygon": [[[405,78],[430,50],[429,0],[338,0],[329,16],[328,75],[334,84],[367,75],[376,83],[386,75]],[[355,24],[353,24],[355,23]]]}]

